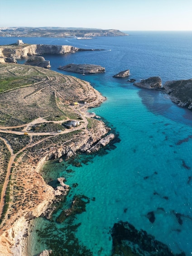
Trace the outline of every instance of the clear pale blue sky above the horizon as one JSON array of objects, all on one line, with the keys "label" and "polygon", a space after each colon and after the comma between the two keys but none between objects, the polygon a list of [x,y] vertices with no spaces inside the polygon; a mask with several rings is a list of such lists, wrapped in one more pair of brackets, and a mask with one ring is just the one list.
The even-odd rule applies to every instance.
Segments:
[{"label": "clear pale blue sky above the horizon", "polygon": [[0,0],[0,27],[192,30],[192,0]]}]

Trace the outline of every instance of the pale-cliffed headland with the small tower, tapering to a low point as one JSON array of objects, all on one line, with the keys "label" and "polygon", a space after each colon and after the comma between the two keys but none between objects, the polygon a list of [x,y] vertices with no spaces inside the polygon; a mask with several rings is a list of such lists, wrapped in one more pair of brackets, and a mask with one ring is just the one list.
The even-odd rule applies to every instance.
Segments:
[{"label": "pale-cliffed headland with the small tower, tapering to a low point", "polygon": [[[93,51],[94,49],[82,49],[70,45],[49,45],[49,44],[10,44],[0,46],[0,62],[13,62],[16,59],[36,54],[66,54],[78,51]],[[99,49],[96,49],[99,50]]]}]

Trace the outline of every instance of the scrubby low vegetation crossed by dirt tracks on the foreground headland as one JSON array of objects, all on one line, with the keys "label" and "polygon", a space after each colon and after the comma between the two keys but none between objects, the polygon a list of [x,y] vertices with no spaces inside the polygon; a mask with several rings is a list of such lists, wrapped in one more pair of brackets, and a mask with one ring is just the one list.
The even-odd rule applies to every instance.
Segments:
[{"label": "scrubby low vegetation crossed by dirt tracks on the foreground headland", "polygon": [[[86,118],[80,107],[88,106],[74,106],[74,102],[86,101],[95,106],[103,97],[76,77],[14,63],[0,63],[0,84],[0,126],[4,126],[0,132],[1,194],[10,171],[0,216],[0,228],[5,230],[8,222],[13,223],[20,214],[29,214],[46,197],[45,183],[36,171],[39,161],[48,154],[56,158],[58,149],[78,147],[85,139]],[[62,125],[69,120],[82,120],[78,130]],[[88,122],[91,135],[99,121]],[[10,159],[13,162],[8,167]]]}]

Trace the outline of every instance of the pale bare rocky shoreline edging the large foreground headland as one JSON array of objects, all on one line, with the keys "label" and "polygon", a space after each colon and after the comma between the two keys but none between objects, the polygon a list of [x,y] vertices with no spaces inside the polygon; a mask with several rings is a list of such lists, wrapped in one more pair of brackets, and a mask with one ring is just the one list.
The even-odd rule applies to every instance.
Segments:
[{"label": "pale bare rocky shoreline edging the large foreground headland", "polygon": [[[102,97],[103,101],[106,100],[105,97]],[[100,98],[101,100],[101,98]],[[98,106],[99,98],[96,99],[96,101],[91,104],[91,107]],[[100,101],[100,103],[102,103]],[[88,105],[88,104],[87,104]],[[90,106],[89,106],[90,107]],[[81,109],[83,111],[83,115],[90,116],[88,110],[88,106],[86,108]],[[74,147],[74,142],[71,144],[72,148],[74,147],[74,154],[76,155],[75,151],[79,150],[80,146],[83,146],[83,150],[87,151],[90,149],[91,144],[98,142],[101,140],[102,136],[106,136],[110,130],[106,126],[106,124],[103,121],[98,121],[96,130],[90,130],[86,131],[83,130],[82,135],[80,136],[81,144],[76,145]],[[89,142],[89,138],[94,138],[93,141],[91,141],[91,144]],[[75,141],[75,137],[73,138]],[[108,142],[109,143],[109,142]],[[108,144],[106,143],[106,144]],[[35,160],[35,155],[30,155],[28,161],[26,159],[24,162],[22,162],[22,157],[19,157],[19,161],[22,162],[22,166],[18,165],[18,162],[14,164],[14,167],[19,168],[20,172],[29,176],[26,177],[26,179],[30,179],[34,177],[34,184],[35,186],[38,184],[38,194],[39,199],[38,202],[36,202],[35,206],[33,206],[31,209],[29,209],[29,206],[26,207],[23,211],[23,213],[17,212],[16,214],[13,214],[10,219],[7,219],[5,224],[5,229],[1,229],[0,234],[0,255],[1,256],[8,256],[8,255],[20,255],[20,256],[29,256],[29,247],[31,240],[31,231],[33,229],[33,221],[35,218],[40,217],[42,213],[45,213],[45,211],[51,206],[51,204],[54,202],[54,200],[57,198],[57,192],[48,184],[45,183],[42,175],[41,175],[41,169],[43,167],[43,164],[51,158],[58,159],[62,155],[67,155],[65,148],[67,145],[58,146],[55,145],[53,147],[53,150],[44,152],[43,154],[39,155],[39,159]],[[25,153],[24,153],[25,155]],[[18,161],[18,160],[17,160]],[[32,176],[33,175],[33,176]],[[35,178],[36,177],[36,178]],[[31,185],[30,189],[33,188],[33,185]],[[46,193],[45,193],[46,192]],[[32,201],[35,202],[35,201]],[[11,213],[10,208],[8,209],[6,215]],[[5,220],[4,220],[5,222]],[[9,224],[10,223],[10,224]],[[2,226],[4,227],[4,226]]]}]

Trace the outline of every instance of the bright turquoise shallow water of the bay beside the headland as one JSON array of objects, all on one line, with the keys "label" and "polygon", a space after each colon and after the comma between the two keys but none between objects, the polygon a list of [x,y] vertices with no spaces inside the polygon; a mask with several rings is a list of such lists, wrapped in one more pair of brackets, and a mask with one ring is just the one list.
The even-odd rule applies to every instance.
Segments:
[{"label": "bright turquoise shallow water of the bay beside the headland", "polygon": [[[163,95],[159,97],[165,100]],[[86,245],[93,255],[109,256],[110,227],[123,220],[153,234],[174,252],[183,250],[190,255],[192,219],[183,218],[181,226],[174,212],[191,216],[192,186],[187,184],[191,170],[182,166],[182,160],[192,166],[192,140],[176,145],[191,134],[191,126],[151,113],[142,104],[138,89],[125,93],[118,88],[115,97],[110,95],[94,111],[117,127],[121,141],[116,149],[94,157],[92,163],[82,167],[68,166],[74,171],[72,174],[67,174],[62,163],[45,167],[52,179],[64,176],[71,187],[78,184],[71,194],[96,198],[75,220],[81,223],[76,232],[80,244]],[[71,200],[68,198],[68,205]],[[151,211],[156,217],[153,224],[146,217]],[[42,224],[43,228],[44,221]]]}]

